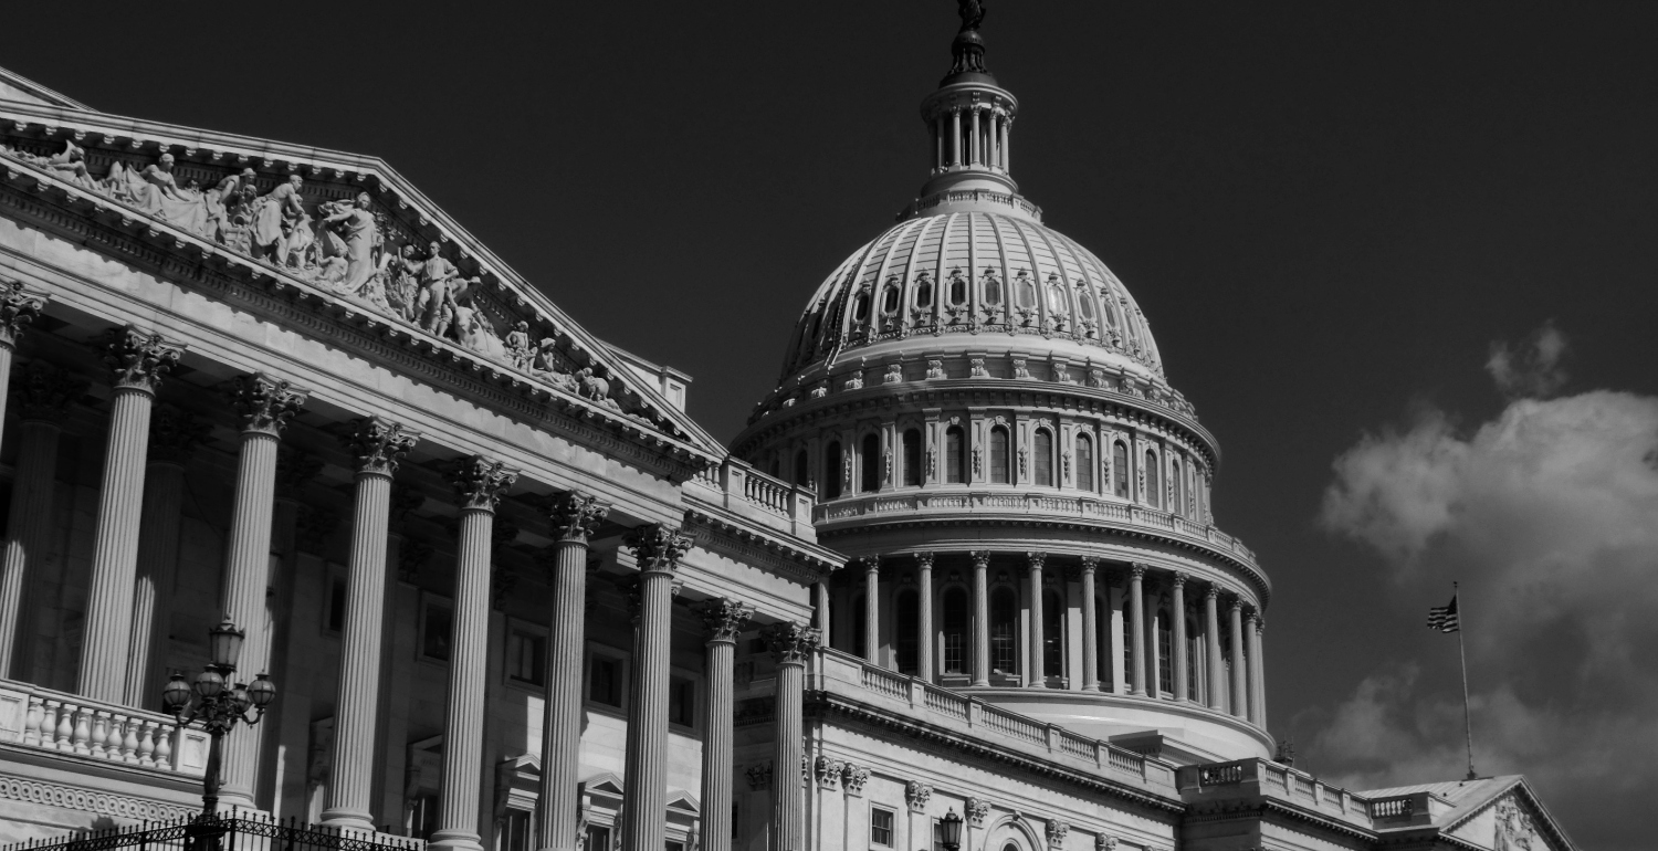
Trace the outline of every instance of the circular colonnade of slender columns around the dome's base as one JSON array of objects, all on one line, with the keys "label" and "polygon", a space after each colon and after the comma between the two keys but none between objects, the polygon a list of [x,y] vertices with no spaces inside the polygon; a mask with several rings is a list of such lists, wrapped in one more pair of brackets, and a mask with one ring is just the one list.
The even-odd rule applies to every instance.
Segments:
[{"label": "circular colonnade of slender columns around the dome's base", "polygon": [[[852,629],[859,635],[854,635],[852,642],[841,640],[837,644],[842,649],[852,649],[847,645],[856,644],[869,664],[904,667],[905,672],[924,680],[950,685],[948,675],[942,670],[937,659],[937,650],[947,640],[967,637],[965,632],[945,635],[935,620],[933,609],[935,605],[942,605],[942,594],[935,581],[938,561],[950,556],[947,552],[917,552],[914,556],[894,556],[887,559],[880,556],[859,557],[852,587],[842,596],[849,604],[862,607],[862,610],[851,612],[852,617],[844,619],[844,624],[854,624]],[[1245,597],[1229,592],[1215,582],[1199,584],[1180,571],[1154,571],[1151,566],[1139,562],[1103,567],[1101,559],[1093,556],[1059,557],[1046,552],[1003,556],[990,551],[968,551],[955,556],[967,556],[972,562],[972,577],[963,582],[970,589],[968,630],[972,634],[972,652],[970,659],[963,660],[967,662],[962,672],[963,677],[957,685],[980,688],[1016,685],[1026,688],[1113,692],[1114,683],[1101,677],[1101,670],[1114,670],[1111,665],[1113,657],[1103,655],[1114,652],[1124,657],[1122,685],[1124,692],[1131,697],[1197,703],[1214,712],[1230,713],[1257,727],[1267,727],[1263,682],[1265,619]],[[1013,630],[1015,635],[1021,634],[1020,637],[1023,639],[1023,652],[1011,654],[1018,669],[1016,675],[1006,670],[996,672],[990,652],[993,556],[998,561],[998,567],[1016,559],[1016,567],[1023,574],[1020,577],[1021,582],[1013,584],[1015,589],[1023,592],[1021,609],[1025,612],[1023,627]],[[904,574],[902,584],[905,587],[914,584],[919,599],[912,619],[915,635],[904,635],[910,629],[910,624],[900,622],[897,617],[882,620],[884,599],[894,596],[895,586],[894,579],[882,577],[884,567],[890,572]],[[914,567],[914,574],[907,572],[905,567]],[[1054,584],[1063,589],[1068,582],[1079,586],[1074,596],[1076,605],[1066,607],[1068,614],[1078,614],[1079,617],[1061,619],[1064,635],[1045,635],[1050,624],[1050,619],[1045,617],[1045,592]],[[1109,630],[1106,629],[1109,624],[1103,625],[1101,622],[1113,614],[1111,610],[1101,610],[1101,597],[1106,601],[1111,599],[1108,594],[1101,594],[1101,582],[1122,589],[1121,617],[1126,622],[1121,632]],[[1192,607],[1199,612],[1197,624],[1192,624],[1192,619],[1187,617],[1187,594],[1200,596],[1200,604]],[[819,624],[831,624],[827,612],[831,594],[826,584],[819,586],[816,599]],[[1059,599],[1068,601],[1069,597],[1061,592]],[[1222,615],[1222,610],[1225,610],[1225,615]],[[1166,612],[1169,619],[1167,629],[1171,639],[1167,649],[1159,647],[1157,632],[1161,624],[1154,624],[1152,620],[1159,617],[1159,612]],[[890,629],[884,630],[882,624],[890,624]],[[890,655],[882,652],[880,637],[884,632],[892,639],[889,642],[894,649]],[[1078,639],[1076,642],[1069,640],[1073,635]],[[1187,644],[1189,639],[1199,637],[1202,640],[1199,655],[1207,662],[1202,667],[1197,667],[1199,660],[1192,659],[1192,649]],[[1045,659],[1048,642],[1045,639],[1059,639],[1061,654],[1066,657],[1063,669],[1079,669],[1079,678],[1048,675],[1050,665]],[[914,640],[914,652],[900,662],[895,647],[900,642],[909,645],[910,640]],[[1081,659],[1079,665],[1071,665],[1069,654],[1076,645],[1079,645]],[[1164,667],[1169,672],[1166,680],[1169,688],[1159,688],[1161,677],[1157,674]],[[993,677],[993,674],[1000,675]],[[1194,682],[1199,687],[1195,690],[1192,688]]]}]

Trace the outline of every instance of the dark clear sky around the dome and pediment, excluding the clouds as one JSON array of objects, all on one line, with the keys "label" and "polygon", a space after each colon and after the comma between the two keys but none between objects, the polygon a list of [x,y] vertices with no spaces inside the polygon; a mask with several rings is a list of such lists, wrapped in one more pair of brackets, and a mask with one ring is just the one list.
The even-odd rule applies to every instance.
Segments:
[{"label": "dark clear sky around the dome and pediment, excluding the clouds", "polygon": [[[812,289],[922,184],[953,3],[539,7],[134,30],[23,3],[0,65],[385,158],[585,327],[690,372],[730,440]],[[1013,176],[1127,284],[1222,443],[1217,519],[1277,584],[1273,728],[1336,771],[1307,743],[1378,665],[1457,685],[1421,625],[1447,582],[1320,529],[1331,461],[1413,408],[1491,420],[1487,348],[1550,319],[1567,393],[1658,393],[1658,3],[991,2],[983,33],[1021,101]],[[1577,841],[1633,848],[1640,815],[1550,793]]]}]

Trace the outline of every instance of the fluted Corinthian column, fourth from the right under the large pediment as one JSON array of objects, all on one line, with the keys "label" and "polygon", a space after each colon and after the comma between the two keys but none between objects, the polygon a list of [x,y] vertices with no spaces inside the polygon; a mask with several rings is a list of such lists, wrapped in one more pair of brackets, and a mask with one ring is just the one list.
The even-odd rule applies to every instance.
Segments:
[{"label": "fluted Corinthian column, fourth from the right under the large pediment", "polygon": [[[552,612],[547,624],[547,700],[541,722],[537,848],[572,851],[577,833],[577,761],[582,750],[582,637],[587,627],[587,539],[610,506],[577,491],[552,499]],[[711,723],[711,722],[710,722]]]}]

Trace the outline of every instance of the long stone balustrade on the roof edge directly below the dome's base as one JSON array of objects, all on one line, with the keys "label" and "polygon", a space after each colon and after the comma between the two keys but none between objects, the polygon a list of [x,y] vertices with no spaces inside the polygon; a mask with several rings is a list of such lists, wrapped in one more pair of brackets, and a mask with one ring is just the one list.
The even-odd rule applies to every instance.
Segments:
[{"label": "long stone balustrade on the roof edge directly below the dome's base", "polygon": [[812,659],[807,688],[958,730],[965,737],[1101,780],[1141,786],[1157,795],[1174,795],[1174,766],[1162,760],[870,665],[851,654],[819,649]]}]

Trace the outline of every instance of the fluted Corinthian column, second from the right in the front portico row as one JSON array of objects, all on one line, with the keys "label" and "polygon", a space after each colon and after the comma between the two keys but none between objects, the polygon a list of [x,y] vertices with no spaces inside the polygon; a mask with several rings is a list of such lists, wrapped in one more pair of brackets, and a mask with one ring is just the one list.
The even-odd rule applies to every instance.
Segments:
[{"label": "fluted Corinthian column, second from the right in the front portico row", "polygon": [[708,601],[703,625],[708,627],[708,733],[703,737],[703,821],[698,851],[731,851],[731,751],[734,708],[733,665],[736,637],[753,610],[736,601]]}]

